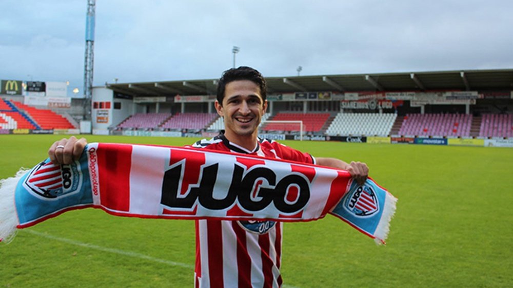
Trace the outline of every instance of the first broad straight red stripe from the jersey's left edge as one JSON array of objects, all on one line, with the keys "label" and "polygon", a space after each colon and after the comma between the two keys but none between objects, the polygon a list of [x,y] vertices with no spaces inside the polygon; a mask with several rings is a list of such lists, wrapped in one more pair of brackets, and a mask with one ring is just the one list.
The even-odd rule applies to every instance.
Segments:
[{"label": "first broad straight red stripe from the jersey's left edge", "polygon": [[215,251],[223,250],[223,235],[221,233],[221,221],[207,221],[207,241],[208,241],[208,275],[210,277],[210,287],[223,287],[223,253]]}]

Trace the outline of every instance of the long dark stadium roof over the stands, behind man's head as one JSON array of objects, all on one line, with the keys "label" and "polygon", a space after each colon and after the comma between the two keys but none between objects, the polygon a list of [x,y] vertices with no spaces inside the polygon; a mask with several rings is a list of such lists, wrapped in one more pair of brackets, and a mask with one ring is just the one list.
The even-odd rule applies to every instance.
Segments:
[{"label": "long dark stadium roof over the stands, behind man's head", "polygon": [[[268,94],[513,90],[513,69],[266,77]],[[131,96],[215,95],[217,79],[107,84]]]}]

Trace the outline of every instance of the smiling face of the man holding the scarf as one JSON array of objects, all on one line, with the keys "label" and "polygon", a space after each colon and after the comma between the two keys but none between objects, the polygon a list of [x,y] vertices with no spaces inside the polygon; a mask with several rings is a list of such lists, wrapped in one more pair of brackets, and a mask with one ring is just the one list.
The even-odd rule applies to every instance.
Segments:
[{"label": "smiling face of the man holding the scarf", "polygon": [[227,137],[249,136],[258,133],[258,125],[267,109],[260,87],[249,80],[226,84],[222,105],[215,102],[218,114],[224,117]]}]

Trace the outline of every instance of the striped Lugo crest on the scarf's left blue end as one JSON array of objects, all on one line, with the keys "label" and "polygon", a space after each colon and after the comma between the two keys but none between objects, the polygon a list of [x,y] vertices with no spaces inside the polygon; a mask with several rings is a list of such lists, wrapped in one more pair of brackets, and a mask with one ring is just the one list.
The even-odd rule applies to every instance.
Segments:
[{"label": "striped Lugo crest on the scarf's left blue end", "polygon": [[82,173],[77,165],[78,162],[71,165],[41,162],[29,172],[23,185],[33,195],[48,200],[69,195],[78,190],[82,181]]}]

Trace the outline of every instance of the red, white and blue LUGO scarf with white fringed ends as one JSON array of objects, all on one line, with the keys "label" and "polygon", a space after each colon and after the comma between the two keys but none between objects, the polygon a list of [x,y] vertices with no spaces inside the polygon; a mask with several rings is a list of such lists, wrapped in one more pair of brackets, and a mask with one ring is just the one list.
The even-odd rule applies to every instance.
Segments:
[{"label": "red, white and blue LUGO scarf with white fringed ends", "polygon": [[[66,211],[168,219],[311,221],[331,214],[385,243],[397,199],[368,178],[280,159],[195,148],[90,143],[0,181],[0,239]],[[14,204],[14,205],[13,205]]]}]

